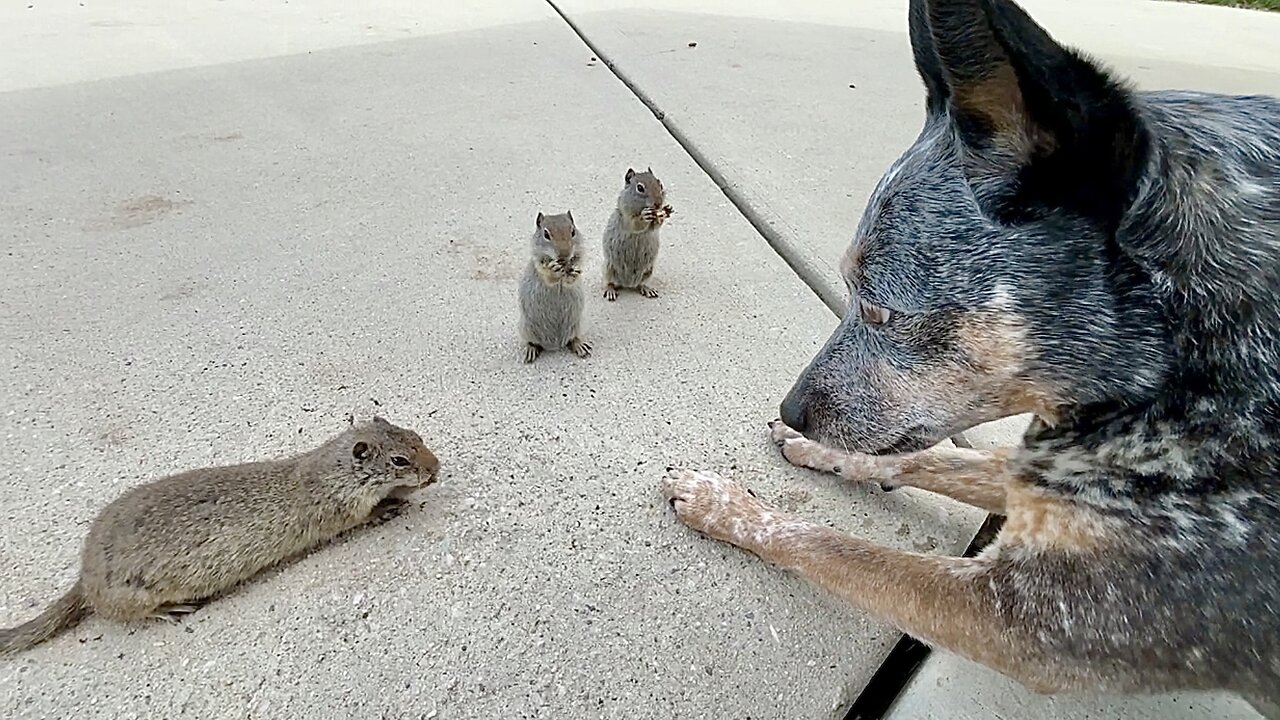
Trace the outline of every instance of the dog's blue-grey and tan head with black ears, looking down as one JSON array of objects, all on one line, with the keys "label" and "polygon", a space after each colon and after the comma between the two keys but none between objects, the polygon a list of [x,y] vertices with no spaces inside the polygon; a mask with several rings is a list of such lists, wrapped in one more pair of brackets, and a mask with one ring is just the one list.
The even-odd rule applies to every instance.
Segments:
[{"label": "dog's blue-grey and tan head with black ears, looking down", "polygon": [[1006,0],[913,0],[910,29],[925,124],[841,259],[849,311],[783,421],[902,452],[1153,393],[1167,328],[1115,242],[1149,159],[1135,96]]}]

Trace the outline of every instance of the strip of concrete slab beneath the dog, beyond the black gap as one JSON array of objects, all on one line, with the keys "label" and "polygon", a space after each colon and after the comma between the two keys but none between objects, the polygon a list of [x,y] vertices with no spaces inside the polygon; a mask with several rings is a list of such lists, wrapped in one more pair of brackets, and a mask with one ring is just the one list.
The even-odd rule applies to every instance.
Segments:
[{"label": "strip of concrete slab beneath the dog, beyond the black gap", "polygon": [[920,667],[886,720],[1261,720],[1228,694],[1160,697],[1043,697],[955,655],[936,653]]}]

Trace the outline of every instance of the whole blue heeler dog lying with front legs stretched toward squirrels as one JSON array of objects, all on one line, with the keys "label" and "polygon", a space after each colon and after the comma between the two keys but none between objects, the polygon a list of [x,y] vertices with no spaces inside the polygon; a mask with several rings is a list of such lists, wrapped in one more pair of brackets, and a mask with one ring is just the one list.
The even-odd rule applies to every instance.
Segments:
[{"label": "whole blue heeler dog lying with front legs stretched toward squirrels", "polygon": [[[686,524],[1038,692],[1280,717],[1280,101],[1133,92],[1007,0],[913,0],[924,128],[782,402],[796,464],[1005,516],[879,547],[671,470]],[[1032,413],[1024,446],[934,447]]]}]

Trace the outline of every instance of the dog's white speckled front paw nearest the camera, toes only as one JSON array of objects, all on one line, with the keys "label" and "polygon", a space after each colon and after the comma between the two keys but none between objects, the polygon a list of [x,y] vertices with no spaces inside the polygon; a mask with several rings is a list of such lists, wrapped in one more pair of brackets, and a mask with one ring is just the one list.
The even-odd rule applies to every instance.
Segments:
[{"label": "dog's white speckled front paw nearest the camera, toes only", "polygon": [[733,544],[758,536],[774,515],[751,491],[703,470],[668,468],[662,495],[682,523]]}]

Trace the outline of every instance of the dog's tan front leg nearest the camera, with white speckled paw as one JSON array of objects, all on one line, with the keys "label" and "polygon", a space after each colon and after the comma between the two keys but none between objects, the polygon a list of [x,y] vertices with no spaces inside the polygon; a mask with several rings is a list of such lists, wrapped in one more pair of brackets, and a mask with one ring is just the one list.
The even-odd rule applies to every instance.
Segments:
[{"label": "dog's tan front leg nearest the camera, with white speckled paw", "polygon": [[924,642],[1039,692],[1060,687],[1065,674],[1000,621],[984,560],[902,552],[858,539],[773,509],[716,473],[668,470],[663,495],[690,528],[795,571]]}]

